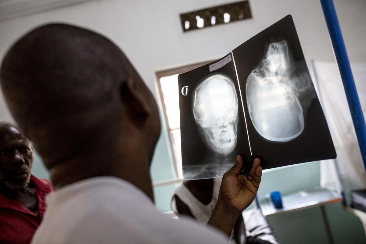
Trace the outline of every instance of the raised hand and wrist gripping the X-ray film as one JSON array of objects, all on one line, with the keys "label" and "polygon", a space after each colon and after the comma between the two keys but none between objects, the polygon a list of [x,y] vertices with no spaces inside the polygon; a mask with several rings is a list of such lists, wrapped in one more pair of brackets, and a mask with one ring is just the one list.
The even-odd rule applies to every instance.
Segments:
[{"label": "raised hand and wrist gripping the X-ray film", "polygon": [[219,198],[208,224],[222,230],[228,237],[239,215],[257,195],[262,177],[260,163],[259,158],[255,158],[249,174],[240,174],[243,159],[238,155],[235,165],[223,176]]}]

